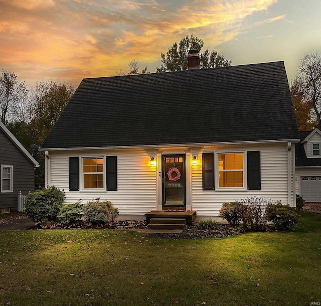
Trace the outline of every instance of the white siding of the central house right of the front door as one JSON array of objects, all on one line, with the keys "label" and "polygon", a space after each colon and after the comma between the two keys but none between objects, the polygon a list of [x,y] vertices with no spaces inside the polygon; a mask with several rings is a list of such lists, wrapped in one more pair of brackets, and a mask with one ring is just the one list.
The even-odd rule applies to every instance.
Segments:
[{"label": "white siding of the central house right of the front door", "polygon": [[[272,199],[273,201],[281,200],[283,204],[293,205],[293,196],[288,201],[288,181],[287,181],[287,144],[265,144],[260,146],[229,146],[207,148],[206,151],[261,151],[261,190],[246,189],[240,190],[202,190],[202,165],[198,163],[193,166],[192,171],[192,194],[193,210],[197,210],[199,216],[217,216],[223,203],[232,202],[240,198],[251,196],[260,196]],[[200,151],[198,151],[200,154]],[[292,151],[291,151],[292,154]],[[192,155],[193,152],[192,152]],[[244,154],[246,159],[246,154]],[[291,158],[292,160],[292,158]],[[292,162],[291,162],[292,165]],[[246,169],[246,163],[245,163]],[[291,171],[291,174],[293,172]],[[293,194],[293,184],[291,182],[291,194]],[[246,175],[245,182],[246,186]]]}]

